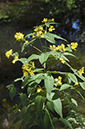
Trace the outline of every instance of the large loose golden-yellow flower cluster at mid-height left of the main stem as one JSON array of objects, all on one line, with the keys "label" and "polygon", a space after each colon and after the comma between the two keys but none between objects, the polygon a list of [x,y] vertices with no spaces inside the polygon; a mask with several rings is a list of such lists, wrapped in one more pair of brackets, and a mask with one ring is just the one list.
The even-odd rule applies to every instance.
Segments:
[{"label": "large loose golden-yellow flower cluster at mid-height left of the main stem", "polygon": [[34,71],[33,71],[34,68],[35,68],[35,64],[32,61],[30,61],[30,63],[27,65],[24,64],[22,67],[23,75],[25,77],[28,75],[28,73],[30,74],[30,76],[34,75]]}]

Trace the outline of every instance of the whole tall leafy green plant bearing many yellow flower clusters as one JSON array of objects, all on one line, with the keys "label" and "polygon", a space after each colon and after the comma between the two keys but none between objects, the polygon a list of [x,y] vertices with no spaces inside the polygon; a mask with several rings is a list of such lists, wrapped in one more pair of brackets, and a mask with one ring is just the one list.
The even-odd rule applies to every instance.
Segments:
[{"label": "whole tall leafy green plant bearing many yellow flower clusters", "polygon": [[[67,40],[53,34],[55,24],[54,18],[44,18],[41,25],[34,27],[33,33],[26,36],[20,32],[15,34],[17,41],[23,41],[22,52],[30,45],[38,51],[37,54],[20,58],[12,49],[5,53],[7,58],[14,57],[13,64],[17,61],[22,63],[22,77],[7,86],[11,99],[18,94],[21,100],[20,104],[10,111],[19,113],[13,124],[21,121],[20,129],[55,129],[58,122],[70,129],[83,125],[77,113],[75,94],[78,93],[84,99],[79,90],[85,90],[84,67],[74,69],[68,59],[68,56],[75,58],[72,52],[76,50],[78,43],[69,44]],[[36,40],[39,40],[41,49],[34,45]],[[67,46],[63,43],[56,46],[57,40],[66,42]],[[41,67],[36,65],[36,60]],[[58,62],[68,66],[70,72],[52,71],[52,66],[48,67],[50,61],[53,62],[52,66]],[[21,91],[17,93],[15,83],[18,81],[21,81]]]}]

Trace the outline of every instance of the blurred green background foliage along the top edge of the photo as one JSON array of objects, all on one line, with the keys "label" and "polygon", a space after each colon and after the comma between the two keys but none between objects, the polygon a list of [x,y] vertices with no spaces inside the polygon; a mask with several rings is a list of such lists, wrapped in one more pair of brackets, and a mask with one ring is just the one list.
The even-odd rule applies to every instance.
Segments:
[{"label": "blurred green background foliage along the top edge of the photo", "polygon": [[[71,13],[77,12],[84,8],[84,0],[18,0],[15,2],[0,3],[0,20],[10,22],[15,19],[22,20],[22,17],[29,17],[37,14],[48,17],[65,14],[70,11]],[[25,19],[24,19],[25,20]]]}]

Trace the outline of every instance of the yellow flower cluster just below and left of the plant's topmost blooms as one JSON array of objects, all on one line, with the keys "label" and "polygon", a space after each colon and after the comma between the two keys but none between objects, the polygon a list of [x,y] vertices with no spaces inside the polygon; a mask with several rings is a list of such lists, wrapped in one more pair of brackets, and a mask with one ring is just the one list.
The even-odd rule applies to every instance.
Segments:
[{"label": "yellow flower cluster just below and left of the plant's topmost blooms", "polygon": [[43,30],[42,26],[36,26],[34,31],[35,32],[33,33],[32,38],[34,38],[35,36],[40,36],[41,38],[44,38],[45,31]]}]

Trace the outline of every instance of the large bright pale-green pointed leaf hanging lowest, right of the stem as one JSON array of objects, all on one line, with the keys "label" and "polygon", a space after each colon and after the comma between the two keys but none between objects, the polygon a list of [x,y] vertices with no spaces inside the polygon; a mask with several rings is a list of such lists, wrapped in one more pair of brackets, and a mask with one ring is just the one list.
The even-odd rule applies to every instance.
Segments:
[{"label": "large bright pale-green pointed leaf hanging lowest, right of the stem", "polygon": [[54,104],[54,110],[60,115],[60,117],[62,117],[62,103],[61,103],[61,99],[58,98],[56,100],[53,100],[53,104]]}]

